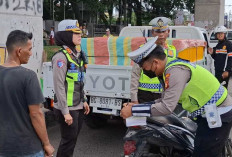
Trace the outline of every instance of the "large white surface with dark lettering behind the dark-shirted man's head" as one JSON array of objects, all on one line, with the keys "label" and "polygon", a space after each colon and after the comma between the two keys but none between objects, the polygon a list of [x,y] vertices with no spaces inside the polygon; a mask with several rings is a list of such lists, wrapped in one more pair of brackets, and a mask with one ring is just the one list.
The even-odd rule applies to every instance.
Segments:
[{"label": "large white surface with dark lettering behind the dark-shirted man's head", "polygon": [[37,73],[38,79],[41,74],[43,54],[43,1],[1,1],[1,38],[0,38],[0,64],[7,58],[6,39],[13,30],[23,30],[33,33],[32,56],[29,63],[23,65]]}]

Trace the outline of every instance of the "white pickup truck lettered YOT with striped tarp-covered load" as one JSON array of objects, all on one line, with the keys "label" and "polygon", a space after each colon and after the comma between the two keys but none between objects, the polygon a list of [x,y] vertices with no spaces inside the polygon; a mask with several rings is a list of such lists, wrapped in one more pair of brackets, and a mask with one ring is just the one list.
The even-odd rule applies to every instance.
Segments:
[{"label": "white pickup truck lettered YOT with striped tarp-covered load", "polygon": [[[204,44],[199,46],[202,48],[201,50],[194,45],[195,50],[189,49],[185,53],[187,57],[191,57],[190,53],[195,53],[194,56],[197,57],[198,55],[198,57],[193,62],[210,69],[209,63],[211,61],[208,61],[208,55],[204,48],[205,39],[201,30],[195,27],[184,29],[185,26],[172,28],[172,30],[175,30],[173,31],[175,37],[184,39],[186,36],[189,39],[180,40],[183,45],[188,45],[190,41],[193,42],[192,39],[203,41]],[[181,32],[178,30],[181,30]],[[92,128],[106,124],[108,118],[119,116],[122,104],[130,101],[132,62],[126,54],[143,44],[145,38],[128,36],[127,34],[127,37],[82,39],[82,49],[86,52],[90,63],[85,76],[85,93],[91,106],[91,113],[86,117],[86,123]],[[178,42],[175,38],[170,38],[168,41]],[[197,54],[197,51],[199,51],[199,54]],[[50,103],[54,97],[50,62],[43,64],[43,90],[44,96]]]}]

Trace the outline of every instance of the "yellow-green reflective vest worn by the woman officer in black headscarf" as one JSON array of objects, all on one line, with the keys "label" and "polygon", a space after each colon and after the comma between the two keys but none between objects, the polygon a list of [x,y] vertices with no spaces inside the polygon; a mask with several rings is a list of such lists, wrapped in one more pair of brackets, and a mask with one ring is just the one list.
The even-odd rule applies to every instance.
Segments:
[{"label": "yellow-green reflective vest worn by the woman officer in black headscarf", "polygon": [[[80,65],[77,64],[70,56],[70,54],[62,49],[62,52],[67,58],[67,72],[66,72],[66,83],[67,83],[67,105],[69,107],[76,106],[81,101],[82,90],[75,89],[80,88],[78,83],[83,83],[84,80],[84,66],[83,61],[81,60]],[[78,100],[76,100],[78,99]]]}]

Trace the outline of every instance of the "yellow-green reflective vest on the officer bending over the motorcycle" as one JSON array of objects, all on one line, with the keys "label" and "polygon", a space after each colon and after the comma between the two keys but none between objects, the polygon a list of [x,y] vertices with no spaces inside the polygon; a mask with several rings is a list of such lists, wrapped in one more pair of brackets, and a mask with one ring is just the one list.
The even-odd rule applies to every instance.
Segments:
[{"label": "yellow-green reflective vest on the officer bending over the motorcycle", "polygon": [[175,65],[184,65],[191,70],[191,78],[180,96],[179,103],[192,117],[202,115],[204,105],[218,106],[226,99],[226,88],[221,86],[208,70],[185,60],[169,58],[165,71]]}]

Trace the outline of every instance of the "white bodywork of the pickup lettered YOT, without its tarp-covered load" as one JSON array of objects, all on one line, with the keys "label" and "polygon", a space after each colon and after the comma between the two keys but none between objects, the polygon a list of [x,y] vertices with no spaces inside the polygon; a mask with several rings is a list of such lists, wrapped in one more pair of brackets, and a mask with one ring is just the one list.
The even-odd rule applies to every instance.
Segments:
[{"label": "white bodywork of the pickup lettered YOT, without its tarp-covered load", "polygon": [[[204,40],[201,30],[195,27],[188,27],[185,30],[173,27],[172,30],[176,30],[176,37],[184,38],[186,35],[190,39]],[[182,33],[179,34],[179,30]],[[197,64],[206,67],[209,63],[206,60],[207,53],[204,52],[204,59],[201,62],[197,62]],[[89,105],[93,108],[92,111],[94,113],[119,116],[122,103],[130,100],[131,69],[132,66],[88,65],[84,89],[89,98]],[[53,99],[51,63],[46,62],[43,64],[43,79],[44,96]]]}]

